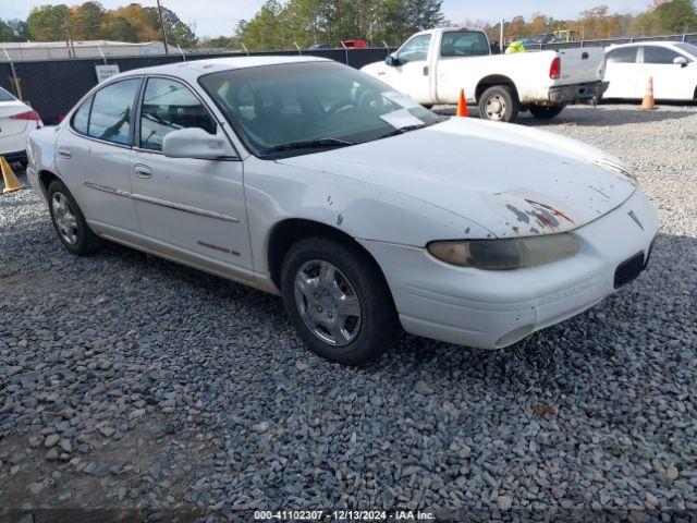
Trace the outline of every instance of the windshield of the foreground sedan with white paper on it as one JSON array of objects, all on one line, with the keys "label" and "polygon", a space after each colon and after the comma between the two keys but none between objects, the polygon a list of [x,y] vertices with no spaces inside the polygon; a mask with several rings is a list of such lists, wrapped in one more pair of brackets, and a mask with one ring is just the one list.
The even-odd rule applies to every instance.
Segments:
[{"label": "windshield of the foreground sedan with white paper on it", "polygon": [[223,71],[199,82],[246,146],[262,158],[345,147],[443,120],[335,62]]}]

